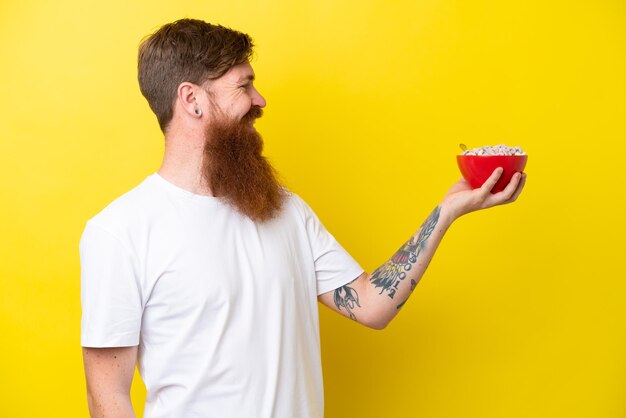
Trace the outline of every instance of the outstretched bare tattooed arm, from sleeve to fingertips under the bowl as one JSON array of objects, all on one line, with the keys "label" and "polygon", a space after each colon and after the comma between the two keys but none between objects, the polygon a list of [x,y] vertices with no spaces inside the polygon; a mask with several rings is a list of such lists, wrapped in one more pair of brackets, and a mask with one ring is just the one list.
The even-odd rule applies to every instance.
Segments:
[{"label": "outstretched bare tattooed arm, from sleeve to fingertips under the bowl", "polygon": [[493,172],[481,188],[459,180],[409,240],[372,274],[319,296],[329,308],[371,328],[383,329],[397,315],[430,264],[454,220],[480,209],[511,203],[522,192],[525,175],[515,175],[500,193],[491,189],[502,174]]}]

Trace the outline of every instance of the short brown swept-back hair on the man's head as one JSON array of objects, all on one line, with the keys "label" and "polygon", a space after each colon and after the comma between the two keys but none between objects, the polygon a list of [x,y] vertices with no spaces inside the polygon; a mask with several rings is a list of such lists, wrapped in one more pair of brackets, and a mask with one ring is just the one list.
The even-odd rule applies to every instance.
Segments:
[{"label": "short brown swept-back hair on the man's head", "polygon": [[252,38],[221,25],[180,19],[161,26],[139,45],[139,89],[165,133],[174,115],[178,86],[201,85],[250,60]]}]

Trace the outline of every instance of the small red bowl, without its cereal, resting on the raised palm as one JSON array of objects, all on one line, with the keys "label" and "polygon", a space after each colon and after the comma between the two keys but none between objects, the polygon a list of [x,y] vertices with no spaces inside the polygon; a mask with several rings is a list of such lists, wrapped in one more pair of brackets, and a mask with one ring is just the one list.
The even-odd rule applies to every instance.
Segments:
[{"label": "small red bowl, without its cereal, resting on the raised palm", "polygon": [[485,180],[498,167],[502,167],[504,172],[496,185],[491,189],[491,193],[498,193],[504,190],[516,172],[523,173],[526,167],[528,155],[457,155],[456,162],[461,169],[463,178],[477,189],[483,185]]}]

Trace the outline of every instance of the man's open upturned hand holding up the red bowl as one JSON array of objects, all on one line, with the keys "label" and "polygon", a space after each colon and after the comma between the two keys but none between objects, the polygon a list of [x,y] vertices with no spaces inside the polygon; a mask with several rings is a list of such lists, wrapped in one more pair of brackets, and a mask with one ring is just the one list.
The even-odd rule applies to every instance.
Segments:
[{"label": "man's open upturned hand holding up the red bowl", "polygon": [[515,202],[524,189],[526,174],[515,173],[504,190],[491,194],[491,189],[498,182],[502,171],[501,167],[496,168],[478,189],[472,189],[472,186],[465,179],[457,181],[448,190],[441,205],[447,207],[454,219],[456,219],[480,209]]}]

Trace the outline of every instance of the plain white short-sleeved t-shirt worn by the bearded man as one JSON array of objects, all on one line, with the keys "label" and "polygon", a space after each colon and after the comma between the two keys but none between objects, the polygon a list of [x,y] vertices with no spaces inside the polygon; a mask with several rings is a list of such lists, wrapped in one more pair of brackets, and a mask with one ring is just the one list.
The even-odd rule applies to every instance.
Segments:
[{"label": "plain white short-sleeved t-shirt worn by the bearded man", "polygon": [[317,296],[363,269],[290,193],[256,224],[154,173],[87,222],[81,344],[139,345],[147,418],[323,416]]}]

